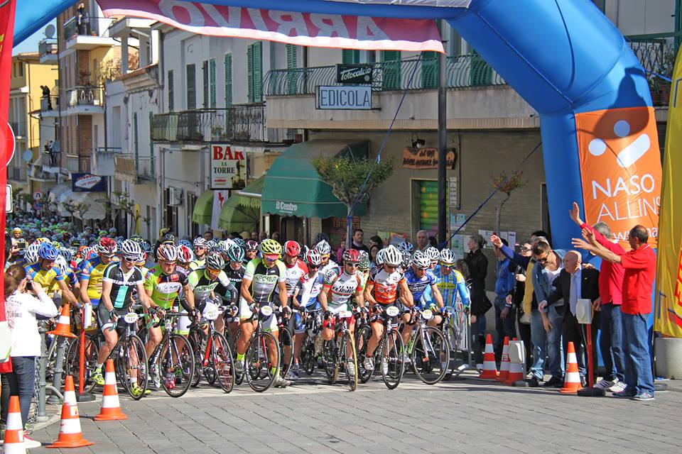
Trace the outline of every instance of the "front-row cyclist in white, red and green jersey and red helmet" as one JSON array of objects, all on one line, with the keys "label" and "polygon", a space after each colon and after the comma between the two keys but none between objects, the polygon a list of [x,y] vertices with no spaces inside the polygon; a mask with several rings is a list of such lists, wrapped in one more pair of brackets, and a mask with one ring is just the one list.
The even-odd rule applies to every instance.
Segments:
[{"label": "front-row cyclist in white, red and green jersey and red helmet", "polygon": [[[339,314],[342,311],[350,311],[351,297],[355,297],[358,306],[364,308],[364,298],[362,296],[362,272],[357,269],[360,262],[360,251],[357,249],[347,249],[343,253],[343,269],[333,268],[325,274],[324,285],[320,296],[320,306],[325,311],[325,321],[323,323],[322,338],[325,341],[330,341],[334,337],[334,314]],[[348,322],[348,331],[352,338],[355,328],[355,318],[350,317]],[[352,355],[352,348],[347,345],[347,353]],[[348,371],[351,376],[355,375],[354,363],[352,356],[348,358]]]}]

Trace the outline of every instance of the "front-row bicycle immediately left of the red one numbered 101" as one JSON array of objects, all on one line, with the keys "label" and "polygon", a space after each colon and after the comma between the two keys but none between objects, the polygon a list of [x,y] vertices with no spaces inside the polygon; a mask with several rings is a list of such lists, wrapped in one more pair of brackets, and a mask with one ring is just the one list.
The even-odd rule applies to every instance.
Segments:
[{"label": "front-row bicycle immediately left of the red one numbered 101", "polygon": [[[152,313],[153,314],[153,313]],[[173,333],[176,319],[187,314],[166,312],[163,316],[163,338],[151,354],[150,372],[157,375],[166,394],[182,397],[194,377],[194,352],[185,336]]]}]

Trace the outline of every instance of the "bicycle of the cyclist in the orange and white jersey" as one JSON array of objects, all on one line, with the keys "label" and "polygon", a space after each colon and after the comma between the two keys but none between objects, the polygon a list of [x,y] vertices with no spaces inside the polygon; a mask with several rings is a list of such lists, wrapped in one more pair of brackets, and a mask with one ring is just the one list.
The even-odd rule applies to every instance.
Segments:
[{"label": "bicycle of the cyclist in the orange and white jersey", "polygon": [[[383,311],[384,315],[382,316],[379,313],[374,315],[372,319],[379,320],[381,318],[381,322],[384,323],[384,333],[381,335],[379,345],[374,350],[373,361],[374,364],[379,363],[381,366],[381,378],[386,387],[395,389],[400,384],[405,372],[403,339],[398,331],[398,317],[401,315],[401,311],[396,306],[388,306],[385,310],[379,309],[379,311]],[[358,355],[362,355],[362,358],[367,356],[367,344],[371,337],[372,326],[370,323],[364,323],[357,334]],[[366,370],[362,361],[358,362],[358,367],[358,378],[360,382],[366,383],[372,377],[374,370]]]}]

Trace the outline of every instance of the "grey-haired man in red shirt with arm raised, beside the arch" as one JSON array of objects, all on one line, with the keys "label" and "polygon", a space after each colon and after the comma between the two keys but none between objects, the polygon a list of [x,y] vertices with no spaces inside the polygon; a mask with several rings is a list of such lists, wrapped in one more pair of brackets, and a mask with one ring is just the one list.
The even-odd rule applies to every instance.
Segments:
[{"label": "grey-haired man in red shirt with arm raised, beside the arch", "polygon": [[[611,238],[611,229],[606,223],[598,222],[594,227],[580,219],[580,208],[573,202],[573,209],[568,212],[570,218],[580,226],[588,228],[595,234],[595,239],[612,253],[623,255],[625,250]],[[599,319],[602,335],[599,338],[599,349],[604,360],[605,375],[595,388],[610,389],[621,392],[625,389],[623,362],[623,321],[620,306],[622,304],[623,265],[602,260],[599,273],[599,299],[594,302],[595,311],[601,311]]]}]

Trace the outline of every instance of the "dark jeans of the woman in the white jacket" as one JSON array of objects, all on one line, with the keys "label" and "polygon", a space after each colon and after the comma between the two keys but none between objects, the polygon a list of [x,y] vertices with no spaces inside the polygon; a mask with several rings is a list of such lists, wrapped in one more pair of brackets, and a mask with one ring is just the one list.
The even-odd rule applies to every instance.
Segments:
[{"label": "dark jeans of the woman in the white jacket", "polygon": [[28,420],[28,410],[31,409],[31,399],[33,398],[33,387],[36,383],[36,358],[33,356],[13,356],[12,372],[2,374],[2,406],[0,421],[7,422],[7,411],[9,411],[9,397],[19,397],[19,408],[21,409],[21,423],[26,428]]}]

